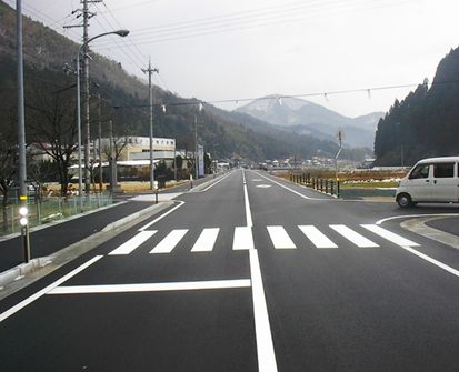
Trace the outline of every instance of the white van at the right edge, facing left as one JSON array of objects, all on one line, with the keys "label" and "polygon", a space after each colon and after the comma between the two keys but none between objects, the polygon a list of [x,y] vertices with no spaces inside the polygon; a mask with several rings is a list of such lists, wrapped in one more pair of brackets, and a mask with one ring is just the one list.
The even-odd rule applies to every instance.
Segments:
[{"label": "white van at the right edge, facing left", "polygon": [[422,159],[401,179],[396,192],[401,208],[418,202],[459,202],[459,157]]}]

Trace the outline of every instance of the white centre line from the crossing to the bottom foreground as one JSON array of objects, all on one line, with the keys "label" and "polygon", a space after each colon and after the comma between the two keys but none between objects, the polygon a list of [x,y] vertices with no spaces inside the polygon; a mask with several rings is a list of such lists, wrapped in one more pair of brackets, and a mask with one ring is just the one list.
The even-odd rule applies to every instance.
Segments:
[{"label": "white centre line from the crossing to the bottom foreground", "polygon": [[263,282],[261,279],[258,251],[250,250],[250,275],[252,280],[252,300],[255,332],[257,340],[258,370],[277,372],[275,346],[272,344],[271,328],[269,324],[268,306],[266,304]]}]

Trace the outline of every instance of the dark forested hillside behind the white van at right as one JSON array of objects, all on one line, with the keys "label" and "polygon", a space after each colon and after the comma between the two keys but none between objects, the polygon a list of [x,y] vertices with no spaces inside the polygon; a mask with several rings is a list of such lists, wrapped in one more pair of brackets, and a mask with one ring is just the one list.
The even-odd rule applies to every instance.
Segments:
[{"label": "dark forested hillside behind the white van at right", "polygon": [[459,48],[451,50],[428,82],[396,101],[378,123],[377,164],[412,164],[421,158],[458,155]]}]

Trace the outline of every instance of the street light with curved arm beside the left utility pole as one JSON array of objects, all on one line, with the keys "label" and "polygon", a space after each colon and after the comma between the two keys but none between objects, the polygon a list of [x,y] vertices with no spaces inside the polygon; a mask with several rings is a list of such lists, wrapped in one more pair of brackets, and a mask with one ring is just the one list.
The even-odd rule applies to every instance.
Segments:
[{"label": "street light with curved arm beside the left utility pole", "polygon": [[[128,30],[118,30],[111,32],[103,32],[96,37],[88,39],[83,42],[77,54],[77,118],[78,118],[78,194],[80,198],[80,208],[82,208],[82,172],[81,172],[81,101],[80,101],[80,56],[83,49],[88,47],[88,44],[96,39],[102,38],[108,34],[118,34],[119,37],[127,37],[129,34]],[[84,133],[84,184],[86,184],[86,192],[89,195],[90,192],[90,183],[88,177],[89,170],[89,141],[90,141],[90,127],[89,127],[89,63],[88,63],[88,56],[84,53],[84,91],[86,91],[86,133]]]}]

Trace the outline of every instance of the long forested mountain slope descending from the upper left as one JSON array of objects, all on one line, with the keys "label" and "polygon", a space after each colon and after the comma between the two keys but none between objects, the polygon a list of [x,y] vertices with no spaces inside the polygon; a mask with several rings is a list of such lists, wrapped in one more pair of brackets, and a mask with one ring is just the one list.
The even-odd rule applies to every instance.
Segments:
[{"label": "long forested mountain slope descending from the upper left", "polygon": [[[0,1],[0,133],[16,115],[16,11]],[[23,17],[26,133],[28,142],[37,141],[37,129],[44,129],[52,113],[66,108],[66,130],[72,138],[74,129],[76,92],[74,76],[63,73],[71,64],[79,46],[52,29]],[[127,73],[116,61],[91,52],[90,78],[99,88],[91,88],[92,97],[101,95],[101,121],[113,122],[118,137],[148,135],[148,86]],[[6,73],[3,73],[6,72]],[[286,159],[297,157],[310,159],[320,153],[333,157],[338,150],[335,139],[318,140],[308,134],[256,120],[238,112],[228,112],[204,104],[198,110],[199,99],[183,99],[159,87],[154,87],[154,134],[176,138],[180,149],[194,147],[194,117],[198,118],[198,141],[214,159],[230,158],[248,161]],[[166,113],[162,105],[167,107]],[[53,112],[47,112],[51,111]],[[91,131],[94,133],[98,118],[98,101],[91,100]],[[50,124],[50,123],[48,123]],[[57,123],[53,122],[53,125]],[[102,125],[102,135],[108,135],[108,125]],[[33,130],[34,129],[34,130]],[[62,129],[60,129],[62,131]],[[33,137],[33,135],[34,137]],[[91,134],[93,137],[93,134]],[[331,140],[330,140],[331,139]],[[48,141],[52,141],[49,139]],[[73,143],[74,143],[73,142]],[[360,152],[348,152],[350,158]]]}]

